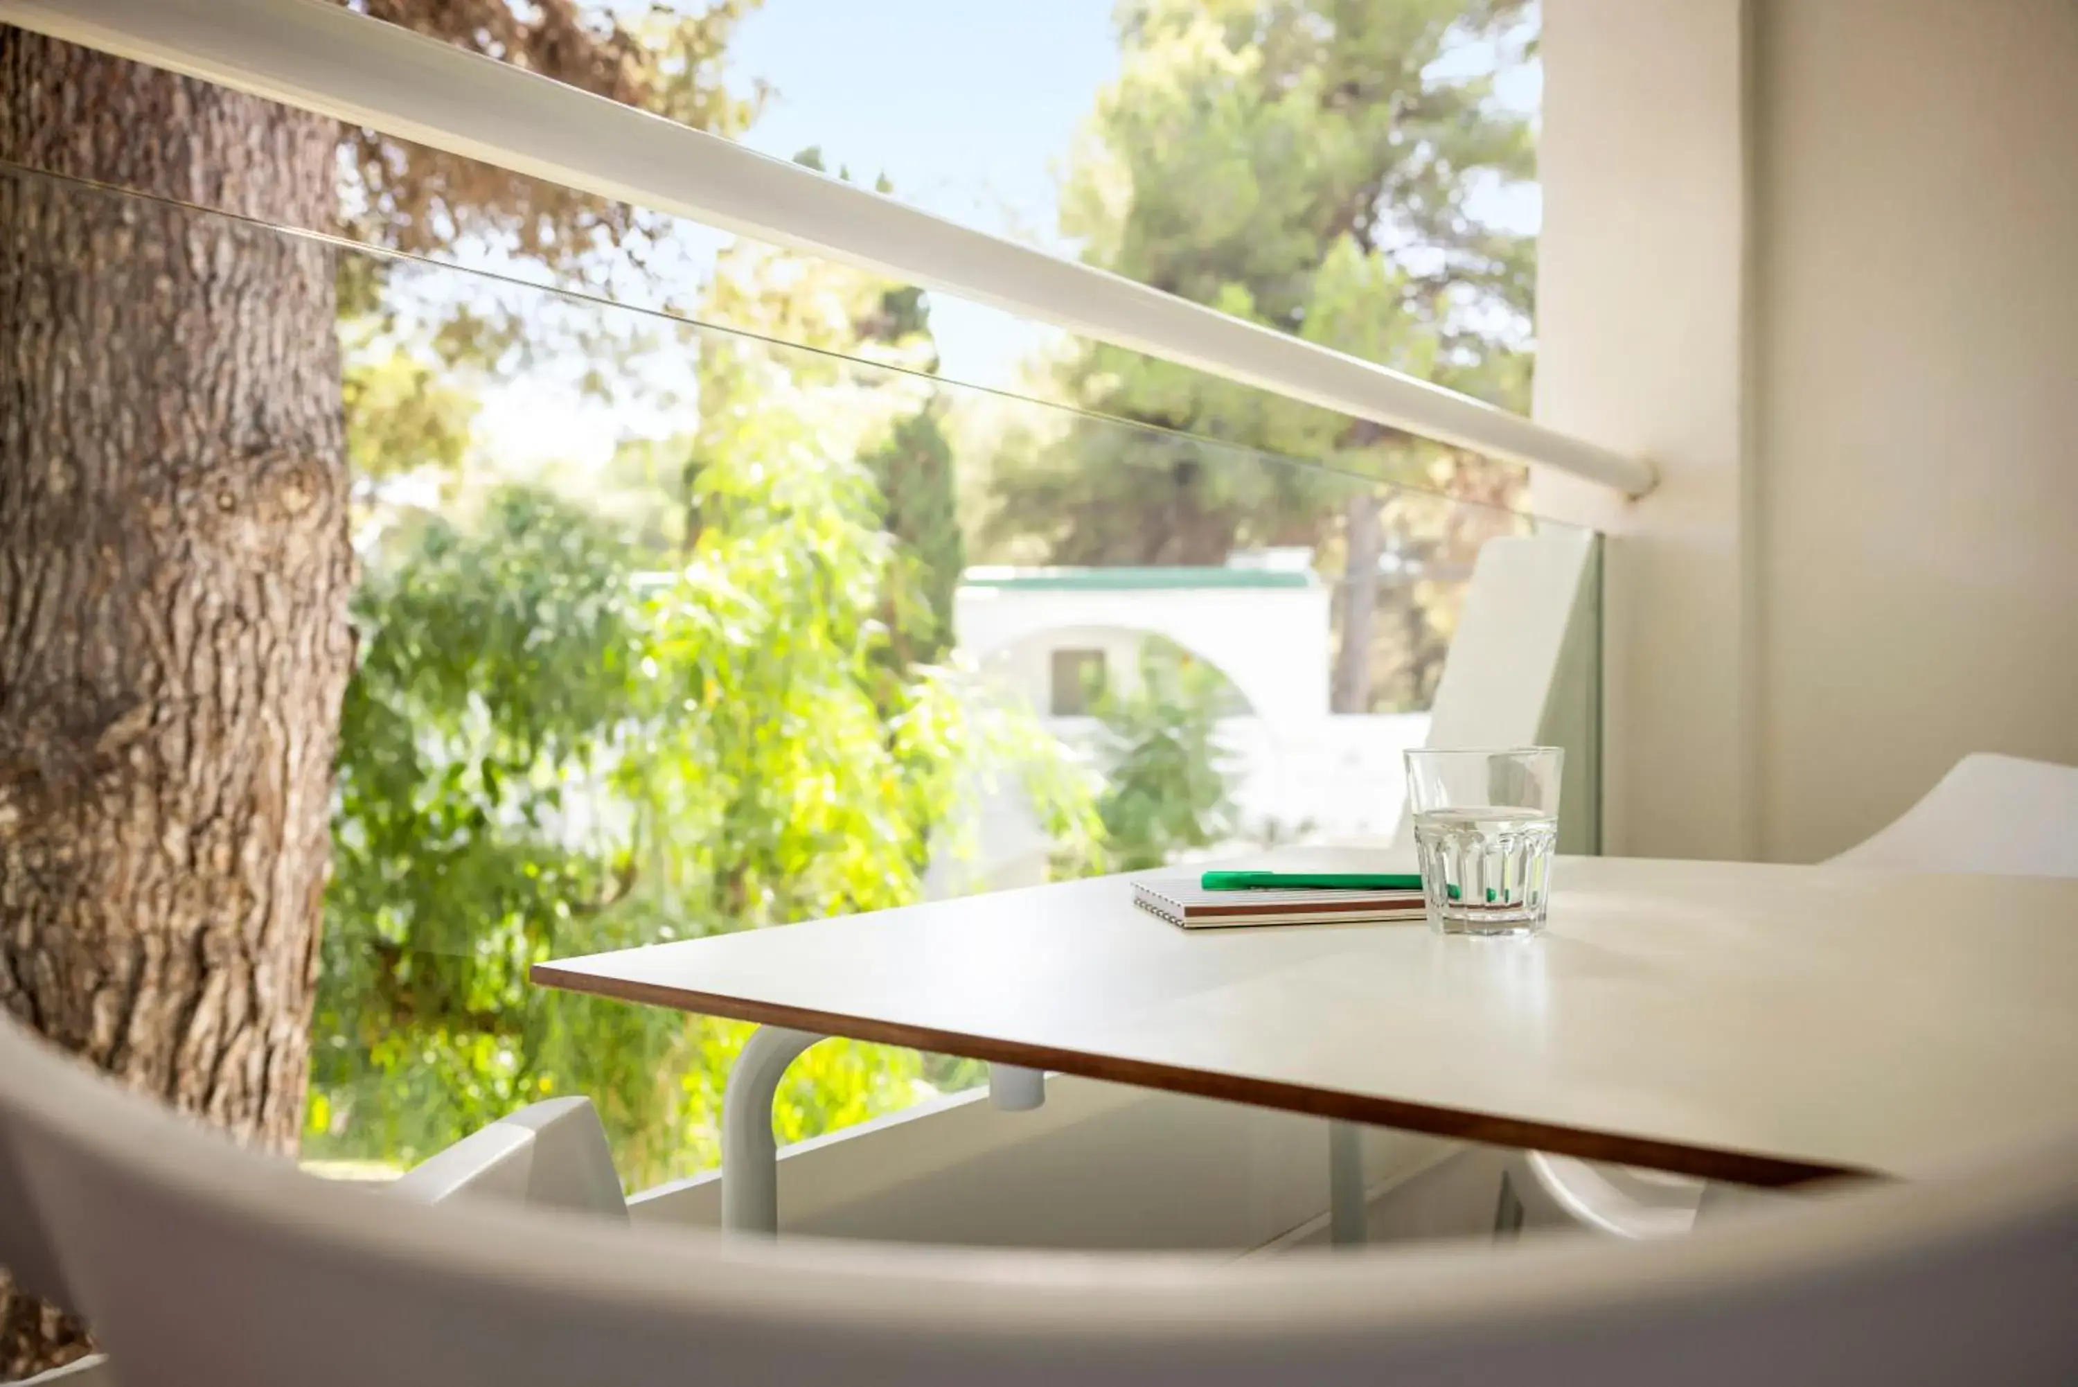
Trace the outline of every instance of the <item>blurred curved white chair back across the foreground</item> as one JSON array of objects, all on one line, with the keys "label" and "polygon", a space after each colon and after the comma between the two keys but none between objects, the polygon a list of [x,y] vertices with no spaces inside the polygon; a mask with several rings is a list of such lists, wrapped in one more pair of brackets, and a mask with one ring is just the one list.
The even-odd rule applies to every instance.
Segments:
[{"label": "blurred curved white chair back across the foreground", "polygon": [[12,1021],[0,1110],[127,1387],[2078,1381],[2078,1133],[1677,1241],[1236,1264],[418,1208],[235,1150]]}]

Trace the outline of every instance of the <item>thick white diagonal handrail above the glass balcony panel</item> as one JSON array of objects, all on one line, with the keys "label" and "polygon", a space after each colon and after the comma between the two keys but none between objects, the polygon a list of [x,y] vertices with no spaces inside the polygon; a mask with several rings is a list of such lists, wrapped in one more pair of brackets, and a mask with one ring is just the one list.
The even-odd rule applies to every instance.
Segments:
[{"label": "thick white diagonal handrail above the glass balcony panel", "polygon": [[948,223],[326,0],[0,0],[0,21],[1633,497],[1654,482],[1640,457],[1469,395]]}]

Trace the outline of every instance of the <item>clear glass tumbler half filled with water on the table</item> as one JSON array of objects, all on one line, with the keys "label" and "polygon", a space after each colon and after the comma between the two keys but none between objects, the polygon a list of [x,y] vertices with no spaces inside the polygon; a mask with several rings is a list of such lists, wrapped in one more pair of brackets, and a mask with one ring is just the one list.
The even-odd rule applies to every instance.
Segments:
[{"label": "clear glass tumbler half filled with water on the table", "polygon": [[1407,803],[1432,930],[1544,927],[1563,761],[1558,747],[1407,753]]}]

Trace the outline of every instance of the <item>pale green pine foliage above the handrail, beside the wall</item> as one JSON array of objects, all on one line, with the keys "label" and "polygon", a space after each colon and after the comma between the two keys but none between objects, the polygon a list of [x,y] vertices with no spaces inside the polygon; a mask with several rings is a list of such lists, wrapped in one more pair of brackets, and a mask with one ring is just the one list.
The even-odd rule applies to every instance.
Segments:
[{"label": "pale green pine foliage above the handrail, beside the wall", "polygon": [[[1423,318],[1421,299],[1446,289],[1527,302],[1521,237],[1467,218],[1465,198],[1480,175],[1529,177],[1529,125],[1490,104],[1490,79],[1432,73],[1450,48],[1502,40],[1525,10],[1130,0],[1118,15],[1126,60],[1070,173],[1064,231],[1122,274],[1290,333],[1353,291]],[[1342,239],[1378,260],[1369,283],[1324,270]],[[1398,316],[1363,320],[1392,333]]]}]

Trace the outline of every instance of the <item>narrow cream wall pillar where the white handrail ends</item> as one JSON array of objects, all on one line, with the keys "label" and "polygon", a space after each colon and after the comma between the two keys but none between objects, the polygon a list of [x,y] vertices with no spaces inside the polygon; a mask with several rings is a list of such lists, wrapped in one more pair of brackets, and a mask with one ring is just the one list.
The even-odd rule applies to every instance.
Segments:
[{"label": "narrow cream wall pillar where the white handrail ends", "polygon": [[1544,6],[1536,416],[1642,453],[1658,489],[1536,476],[1604,553],[1602,844],[1754,844],[1739,0]]}]

